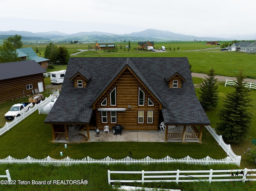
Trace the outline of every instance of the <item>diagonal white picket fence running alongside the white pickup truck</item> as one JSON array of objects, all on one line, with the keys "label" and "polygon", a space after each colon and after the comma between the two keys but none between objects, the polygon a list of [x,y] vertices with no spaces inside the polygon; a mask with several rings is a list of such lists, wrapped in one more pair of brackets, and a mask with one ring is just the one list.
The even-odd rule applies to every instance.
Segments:
[{"label": "diagonal white picket fence running alongside the white pickup truck", "polygon": [[34,111],[38,110],[38,108],[41,108],[41,106],[45,106],[46,104],[51,102],[54,98],[56,98],[56,96],[50,95],[48,98],[46,97],[43,101],[40,101],[40,103],[35,104],[34,107],[29,108],[29,110],[27,112],[24,112],[20,117],[15,117],[14,120],[12,120],[12,122],[6,122],[5,125],[2,128],[0,128],[0,136],[4,134],[6,131],[10,130],[19,122],[21,122],[27,116],[32,114]]}]

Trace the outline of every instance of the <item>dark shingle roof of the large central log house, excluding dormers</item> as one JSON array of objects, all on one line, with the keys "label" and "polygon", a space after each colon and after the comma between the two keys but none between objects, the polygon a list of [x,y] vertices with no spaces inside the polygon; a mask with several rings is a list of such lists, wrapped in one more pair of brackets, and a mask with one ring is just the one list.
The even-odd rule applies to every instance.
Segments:
[{"label": "dark shingle roof of the large central log house, excluding dormers", "polygon": [[[166,124],[210,124],[196,97],[187,58],[70,58],[62,91],[45,122],[89,123],[92,103],[126,66],[163,104]],[[69,79],[81,69],[91,79],[86,88],[74,88]],[[168,87],[165,77],[174,71],[186,79],[182,88]]]}]

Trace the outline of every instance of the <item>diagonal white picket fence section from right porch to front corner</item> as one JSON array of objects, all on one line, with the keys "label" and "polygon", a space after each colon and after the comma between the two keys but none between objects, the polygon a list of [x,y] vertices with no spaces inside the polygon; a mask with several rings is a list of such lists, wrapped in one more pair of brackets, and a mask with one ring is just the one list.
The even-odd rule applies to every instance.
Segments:
[{"label": "diagonal white picket fence section from right porch to front corner", "polygon": [[231,158],[231,161],[240,166],[241,163],[241,156],[238,156],[236,154],[234,154],[230,144],[226,144],[224,142],[224,140],[222,139],[222,135],[218,135],[215,131],[215,129],[213,129],[211,126],[205,126],[206,129],[210,132],[210,134],[212,134],[212,136],[214,137],[214,139],[218,142],[218,144],[221,146],[221,148],[226,152],[226,154]]}]

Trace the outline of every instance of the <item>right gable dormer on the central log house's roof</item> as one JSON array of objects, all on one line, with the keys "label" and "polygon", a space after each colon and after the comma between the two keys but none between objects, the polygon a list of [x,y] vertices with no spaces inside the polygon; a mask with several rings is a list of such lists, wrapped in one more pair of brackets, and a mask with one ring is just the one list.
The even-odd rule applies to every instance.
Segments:
[{"label": "right gable dormer on the central log house's roof", "polygon": [[172,69],[170,76],[165,77],[165,80],[168,82],[169,88],[181,88],[182,82],[185,82],[186,79],[182,77],[176,70]]}]

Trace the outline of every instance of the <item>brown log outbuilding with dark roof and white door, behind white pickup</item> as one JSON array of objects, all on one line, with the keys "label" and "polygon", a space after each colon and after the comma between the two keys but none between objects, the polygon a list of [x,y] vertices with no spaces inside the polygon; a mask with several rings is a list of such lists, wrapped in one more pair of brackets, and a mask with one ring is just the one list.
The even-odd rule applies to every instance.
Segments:
[{"label": "brown log outbuilding with dark roof and white door, behind white pickup", "polygon": [[45,72],[34,60],[0,63],[0,102],[44,91]]}]

